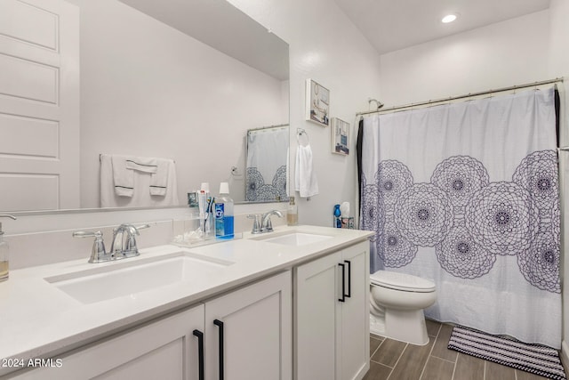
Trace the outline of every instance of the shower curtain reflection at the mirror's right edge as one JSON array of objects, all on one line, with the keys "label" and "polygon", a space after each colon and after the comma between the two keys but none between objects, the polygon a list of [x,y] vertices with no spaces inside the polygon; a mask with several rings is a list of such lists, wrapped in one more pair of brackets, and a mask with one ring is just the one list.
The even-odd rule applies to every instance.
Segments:
[{"label": "shower curtain reflection at the mirror's right edge", "polygon": [[245,200],[288,201],[288,125],[247,131]]}]

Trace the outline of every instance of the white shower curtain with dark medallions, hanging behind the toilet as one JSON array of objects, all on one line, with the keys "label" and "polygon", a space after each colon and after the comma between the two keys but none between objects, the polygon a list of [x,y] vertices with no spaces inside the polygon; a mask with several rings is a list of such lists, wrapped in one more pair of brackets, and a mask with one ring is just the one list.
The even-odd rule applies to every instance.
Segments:
[{"label": "white shower curtain with dark medallions, hanging behind the toilet", "polygon": [[428,318],[561,346],[554,88],[365,117],[371,271],[432,279]]}]

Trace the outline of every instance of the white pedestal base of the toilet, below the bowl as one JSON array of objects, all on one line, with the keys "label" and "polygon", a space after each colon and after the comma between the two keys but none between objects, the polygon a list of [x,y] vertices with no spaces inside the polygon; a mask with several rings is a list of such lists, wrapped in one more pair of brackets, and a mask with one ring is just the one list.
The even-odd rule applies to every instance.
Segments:
[{"label": "white pedestal base of the toilet, below the bowl", "polygon": [[370,314],[370,332],[409,344],[429,344],[425,315],[421,310],[386,310],[384,316]]}]

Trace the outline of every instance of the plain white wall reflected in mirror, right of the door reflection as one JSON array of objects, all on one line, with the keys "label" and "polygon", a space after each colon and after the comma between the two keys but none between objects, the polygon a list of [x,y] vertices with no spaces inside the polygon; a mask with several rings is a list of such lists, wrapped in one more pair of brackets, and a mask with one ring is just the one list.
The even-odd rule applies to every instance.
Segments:
[{"label": "plain white wall reflected in mirror, right of the door reflection", "polygon": [[[99,203],[99,154],[173,158],[180,204],[231,166],[248,128],[288,122],[281,81],[116,0],[81,14],[81,206]],[[222,132],[221,132],[222,131]],[[231,193],[244,199],[244,180]]]}]

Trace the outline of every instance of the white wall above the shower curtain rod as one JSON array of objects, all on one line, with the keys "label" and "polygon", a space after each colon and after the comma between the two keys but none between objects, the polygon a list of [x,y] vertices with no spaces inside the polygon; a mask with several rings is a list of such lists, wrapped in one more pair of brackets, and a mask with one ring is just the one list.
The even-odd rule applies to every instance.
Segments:
[{"label": "white wall above the shower curtain rod", "polygon": [[381,101],[397,106],[549,79],[549,12],[381,55]]}]

